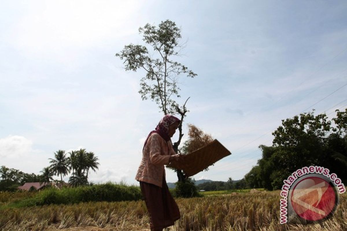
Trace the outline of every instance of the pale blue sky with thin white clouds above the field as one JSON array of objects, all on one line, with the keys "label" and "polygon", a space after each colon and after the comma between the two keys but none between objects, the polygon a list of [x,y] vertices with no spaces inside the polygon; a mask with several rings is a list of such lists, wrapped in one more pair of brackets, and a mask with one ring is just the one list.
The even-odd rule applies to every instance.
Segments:
[{"label": "pale blue sky with thin white clouds above the field", "polygon": [[145,45],[139,27],[170,19],[186,43],[176,60],[197,74],[179,79],[183,133],[194,124],[232,153],[194,179],[242,179],[281,119],[347,107],[346,12],[346,1],[3,0],[0,166],[40,174],[54,152],[84,148],[100,162],[90,181],[138,185],[163,114],[138,93],[144,72],[115,54]]}]

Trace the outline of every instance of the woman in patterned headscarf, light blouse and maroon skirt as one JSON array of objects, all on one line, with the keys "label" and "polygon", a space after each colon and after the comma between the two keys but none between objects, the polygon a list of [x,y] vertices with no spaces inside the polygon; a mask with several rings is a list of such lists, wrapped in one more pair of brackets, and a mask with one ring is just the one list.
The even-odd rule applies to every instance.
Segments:
[{"label": "woman in patterned headscarf, light blouse and maroon skirt", "polygon": [[164,168],[171,161],[182,161],[182,157],[172,149],[170,140],[179,123],[180,120],[175,116],[165,115],[155,130],[150,132],[135,177],[140,182],[152,231],[162,231],[180,218],[178,206],[166,184]]}]

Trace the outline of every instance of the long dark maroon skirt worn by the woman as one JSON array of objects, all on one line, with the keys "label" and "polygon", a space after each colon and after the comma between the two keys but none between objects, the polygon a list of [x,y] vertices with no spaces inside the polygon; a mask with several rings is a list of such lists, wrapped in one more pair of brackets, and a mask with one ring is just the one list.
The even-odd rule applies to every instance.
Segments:
[{"label": "long dark maroon skirt worn by the woman", "polygon": [[150,215],[152,231],[163,230],[175,224],[180,218],[178,206],[171,196],[165,177],[162,187],[140,181],[142,196]]}]

